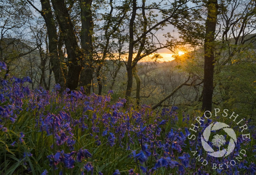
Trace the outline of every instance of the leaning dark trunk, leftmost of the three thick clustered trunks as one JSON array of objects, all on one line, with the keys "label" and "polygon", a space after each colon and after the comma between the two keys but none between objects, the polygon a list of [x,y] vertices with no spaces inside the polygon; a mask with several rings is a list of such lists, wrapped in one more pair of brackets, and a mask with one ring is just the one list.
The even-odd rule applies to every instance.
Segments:
[{"label": "leaning dark trunk, leftmost of the three thick clustered trunks", "polygon": [[50,55],[50,62],[52,64],[52,71],[55,78],[55,83],[59,83],[61,90],[65,89],[65,77],[63,74],[63,71],[61,69],[60,59],[58,56],[58,47],[57,47],[57,29],[54,24],[52,10],[51,10],[51,4],[50,0],[41,0],[41,6],[43,13],[42,16],[44,18],[47,33],[48,33],[48,40],[49,40],[49,55]]}]

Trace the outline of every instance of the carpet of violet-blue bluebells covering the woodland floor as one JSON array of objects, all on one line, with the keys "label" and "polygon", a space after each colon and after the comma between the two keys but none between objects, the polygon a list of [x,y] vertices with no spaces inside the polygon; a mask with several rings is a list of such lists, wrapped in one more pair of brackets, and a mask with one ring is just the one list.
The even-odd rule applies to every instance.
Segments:
[{"label": "carpet of violet-blue bluebells covering the woodland floor", "polygon": [[[0,69],[6,70],[4,62],[0,62]],[[93,157],[91,153],[95,148],[104,145],[108,145],[111,149],[131,153],[129,157],[134,167],[127,170],[129,175],[151,175],[157,171],[160,172],[160,169],[170,169],[176,174],[187,174],[188,171],[193,174],[208,174],[203,170],[204,167],[198,166],[196,156],[203,157],[205,154],[201,137],[204,129],[212,123],[212,120],[204,120],[199,126],[196,140],[189,140],[187,138],[190,135],[188,128],[167,128],[167,125],[172,126],[177,123],[178,107],[176,106],[162,108],[160,112],[153,112],[147,105],[140,106],[138,110],[134,110],[131,105],[124,110],[126,103],[124,98],[119,98],[115,103],[110,101],[112,90],[109,90],[105,96],[98,96],[94,93],[87,96],[84,94],[83,87],[80,91],[70,91],[67,88],[61,93],[61,98],[58,98],[61,88],[59,84],[56,84],[50,93],[40,86],[35,90],[30,90],[29,83],[31,83],[29,77],[22,79],[11,77],[9,82],[1,78],[0,102],[4,105],[0,106],[0,129],[1,132],[7,133],[9,129],[7,127],[15,125],[23,109],[33,115],[35,128],[32,129],[53,139],[50,147],[52,154],[44,157],[47,158],[50,168],[47,167],[42,171],[43,175],[50,172],[51,168],[59,169],[61,174],[62,169],[74,169],[77,164],[83,167],[79,169],[81,174],[84,174],[84,170],[95,174],[93,166],[97,164],[94,160],[98,157]],[[153,119],[151,123],[148,122],[149,119]],[[205,116],[201,119],[205,119]],[[189,115],[182,113],[182,121],[189,124],[195,120],[191,121]],[[240,128],[237,129],[241,131]],[[234,159],[242,148],[249,149],[252,139],[256,139],[256,132],[254,126],[248,129],[252,131],[252,138],[243,140],[240,135],[234,151],[228,157],[218,159],[207,155],[206,160],[215,162],[218,167],[219,164]],[[93,149],[86,149],[79,145],[75,138],[78,131],[80,135],[84,134],[88,140],[92,140]],[[8,140],[8,145],[16,149],[20,144],[27,142],[27,137],[27,133],[19,132],[16,140],[13,140],[15,138]],[[208,141],[208,144],[211,145],[212,142]],[[228,142],[225,144],[227,145]],[[137,147],[131,150],[131,147],[134,149],[134,145]],[[195,156],[191,155],[191,148],[197,151]],[[256,152],[255,145],[252,145],[251,151]],[[35,155],[35,152],[24,152],[24,165],[27,164],[29,157]],[[81,164],[84,165],[81,166]],[[235,166],[229,165],[228,168],[223,166],[223,169],[217,172],[255,174],[256,166],[255,163],[244,159]],[[118,169],[113,172],[113,175],[119,174],[121,173]]]}]

